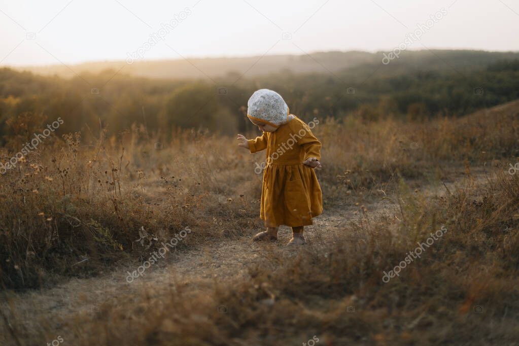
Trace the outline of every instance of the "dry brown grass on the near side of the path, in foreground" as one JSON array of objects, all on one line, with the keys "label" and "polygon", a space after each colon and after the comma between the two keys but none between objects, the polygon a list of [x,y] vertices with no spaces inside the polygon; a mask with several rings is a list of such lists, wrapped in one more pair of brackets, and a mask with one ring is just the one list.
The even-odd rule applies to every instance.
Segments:
[{"label": "dry brown grass on the near side of the path, in foreground", "polygon": [[[501,173],[483,185],[469,177],[440,198],[401,183],[398,206],[400,220],[364,214],[292,258],[267,246],[247,280],[121,294],[93,318],[78,313],[60,330],[79,345],[286,345],[313,335],[326,345],[513,344],[519,176]],[[441,239],[383,283],[384,271],[441,226]],[[42,328],[35,340],[55,330]]]}]

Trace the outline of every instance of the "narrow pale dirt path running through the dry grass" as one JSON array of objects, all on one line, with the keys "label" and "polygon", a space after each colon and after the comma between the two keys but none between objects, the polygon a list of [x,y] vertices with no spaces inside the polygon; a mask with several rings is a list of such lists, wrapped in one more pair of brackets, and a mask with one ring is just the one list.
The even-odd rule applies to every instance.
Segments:
[{"label": "narrow pale dirt path running through the dry grass", "polygon": [[[476,183],[483,183],[486,179],[483,170],[472,172]],[[461,183],[466,176],[452,175],[452,183],[446,184],[451,189]],[[446,189],[443,184],[424,185],[419,188],[428,197],[443,195]],[[394,197],[391,198],[394,200]],[[365,203],[368,214],[372,218],[380,215],[392,217],[397,213],[397,204],[391,199],[381,199],[372,196],[370,203]],[[305,231],[308,242],[322,243],[332,239],[336,232],[340,232],[348,222],[355,222],[359,215],[354,214],[358,206],[349,206],[345,210],[325,211],[315,219],[315,224]],[[283,252],[283,256],[290,256],[284,250],[283,244],[288,242],[291,231],[288,227],[280,228],[279,244],[252,243],[249,237],[238,240],[221,240],[172,254],[169,258],[160,259],[157,265],[146,269],[145,276],[128,283],[127,270],[115,269],[89,279],[72,279],[49,289],[33,290],[28,293],[10,294],[7,303],[0,306],[6,309],[9,306],[11,313],[15,313],[16,321],[24,321],[28,329],[38,329],[46,326],[50,330],[60,330],[64,321],[78,313],[95,313],[104,302],[117,302],[121,293],[139,297],[142,292],[154,290],[157,295],[167,292],[175,284],[187,284],[194,290],[211,289],[215,280],[220,282],[232,281],[239,278],[248,278],[248,267],[261,256],[265,256],[265,246],[268,250]],[[136,269],[136,268],[135,268]]]}]

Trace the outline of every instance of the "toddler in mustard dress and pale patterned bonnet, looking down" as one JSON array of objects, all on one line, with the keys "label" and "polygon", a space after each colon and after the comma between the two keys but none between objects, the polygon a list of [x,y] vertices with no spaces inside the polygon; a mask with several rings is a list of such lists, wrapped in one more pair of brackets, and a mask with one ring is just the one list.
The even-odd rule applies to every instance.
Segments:
[{"label": "toddler in mustard dress and pale patterned bonnet, looking down", "polygon": [[253,240],[277,240],[278,227],[292,227],[288,245],[306,244],[304,226],[322,213],[322,193],[313,168],[321,168],[321,142],[308,125],[289,113],[277,92],[260,89],[252,94],[247,116],[263,135],[247,140],[238,134],[238,145],[251,153],[267,149],[263,172],[260,217],[266,231]]}]

